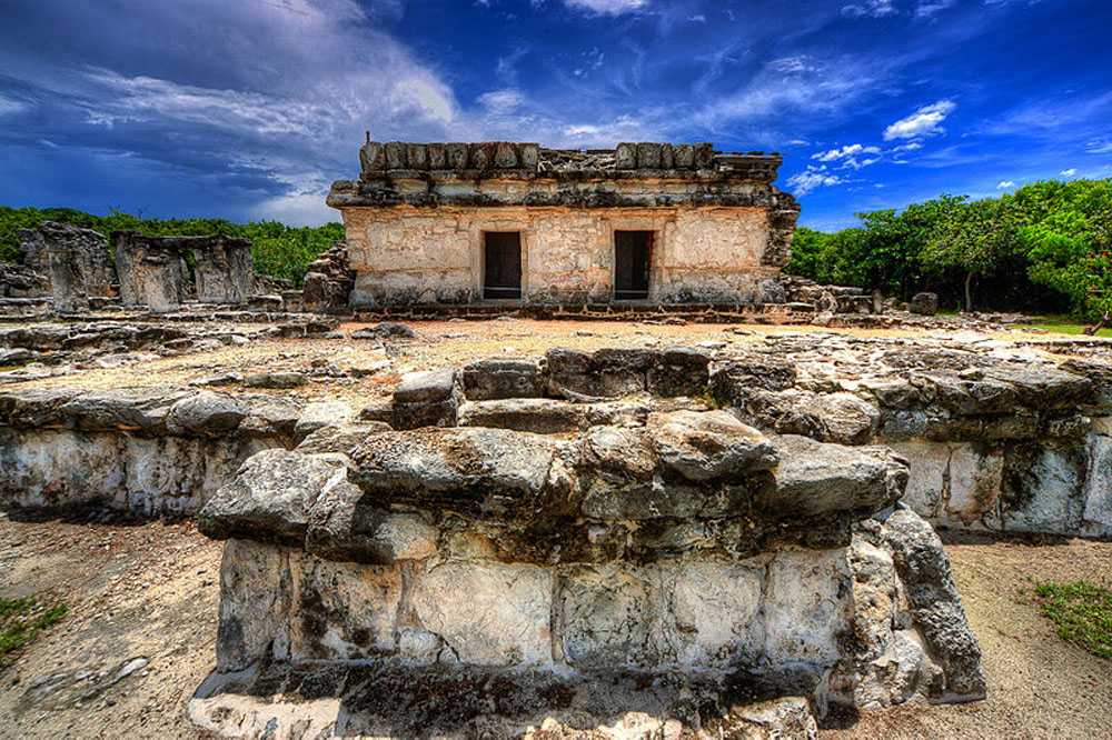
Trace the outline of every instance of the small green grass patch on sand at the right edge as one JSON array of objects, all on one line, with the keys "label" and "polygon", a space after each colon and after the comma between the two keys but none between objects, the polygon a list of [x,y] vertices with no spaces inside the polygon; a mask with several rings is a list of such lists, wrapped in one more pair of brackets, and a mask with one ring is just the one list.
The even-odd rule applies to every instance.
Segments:
[{"label": "small green grass patch on sand at the right edge", "polygon": [[1035,598],[1062,638],[1112,659],[1112,591],[1085,580],[1035,583]]}]

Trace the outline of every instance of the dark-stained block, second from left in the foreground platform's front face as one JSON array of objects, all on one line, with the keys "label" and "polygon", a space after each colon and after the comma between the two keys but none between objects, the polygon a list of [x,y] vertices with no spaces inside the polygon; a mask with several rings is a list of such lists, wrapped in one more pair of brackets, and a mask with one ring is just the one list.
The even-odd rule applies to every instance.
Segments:
[{"label": "dark-stained block, second from left in the foreground platform's front face", "polygon": [[367,660],[395,652],[398,566],[329,562],[290,552],[290,660]]}]

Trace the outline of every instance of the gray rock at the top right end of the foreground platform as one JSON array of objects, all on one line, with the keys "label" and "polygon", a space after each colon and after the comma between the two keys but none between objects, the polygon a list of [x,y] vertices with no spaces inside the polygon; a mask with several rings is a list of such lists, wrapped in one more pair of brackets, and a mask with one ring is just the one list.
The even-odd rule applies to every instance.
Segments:
[{"label": "gray rock at the top right end of the foreground platform", "polygon": [[878,511],[907,486],[907,462],[885,447],[843,447],[786,434],[776,487],[755,502],[772,517],[807,517],[837,511]]}]

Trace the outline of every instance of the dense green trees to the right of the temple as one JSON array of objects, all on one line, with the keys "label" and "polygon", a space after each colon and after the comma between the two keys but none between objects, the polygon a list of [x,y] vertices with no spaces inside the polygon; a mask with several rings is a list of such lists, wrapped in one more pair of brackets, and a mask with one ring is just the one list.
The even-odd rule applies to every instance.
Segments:
[{"label": "dense green trees to the right of the temple", "polygon": [[941,196],[857,218],[834,233],[798,229],[788,272],[904,300],[931,290],[967,310],[1069,308],[1091,319],[1112,309],[1112,179]]}]

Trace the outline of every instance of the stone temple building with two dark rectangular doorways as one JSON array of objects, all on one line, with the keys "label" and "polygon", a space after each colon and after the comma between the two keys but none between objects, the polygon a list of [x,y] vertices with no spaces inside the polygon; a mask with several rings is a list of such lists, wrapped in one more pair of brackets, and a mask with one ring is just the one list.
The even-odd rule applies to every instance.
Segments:
[{"label": "stone temple building with two dark rectangular doorways", "polygon": [[776,153],[379,143],[332,183],[351,306],[782,302],[800,207]]}]

